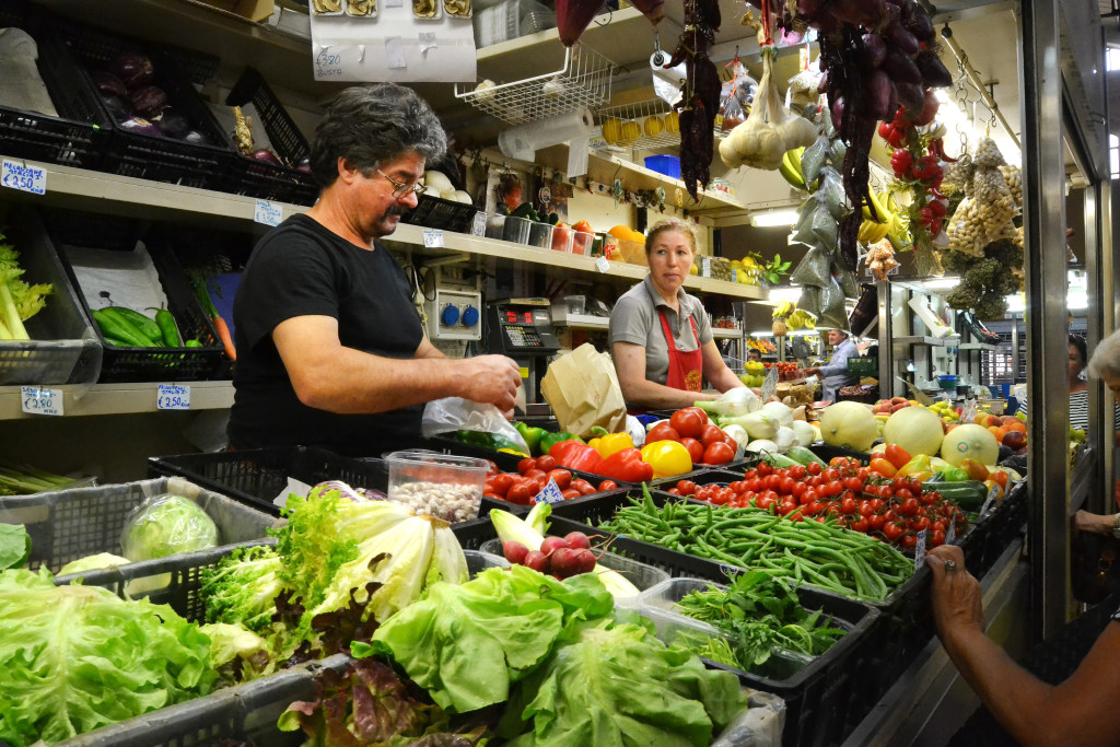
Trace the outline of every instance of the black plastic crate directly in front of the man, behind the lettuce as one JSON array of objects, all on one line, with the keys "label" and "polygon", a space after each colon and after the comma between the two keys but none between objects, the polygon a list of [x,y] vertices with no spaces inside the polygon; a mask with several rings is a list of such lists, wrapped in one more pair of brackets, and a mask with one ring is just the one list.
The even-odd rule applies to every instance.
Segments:
[{"label": "black plastic crate directly in front of the man, behind the lettuce", "polygon": [[[389,470],[381,459],[353,459],[306,446],[151,457],[148,474],[185,477],[273,516],[280,515],[280,506],[272,501],[287,495],[289,478],[312,486],[340,479],[355,487],[389,489]],[[483,496],[478,514],[510,505]]]}]

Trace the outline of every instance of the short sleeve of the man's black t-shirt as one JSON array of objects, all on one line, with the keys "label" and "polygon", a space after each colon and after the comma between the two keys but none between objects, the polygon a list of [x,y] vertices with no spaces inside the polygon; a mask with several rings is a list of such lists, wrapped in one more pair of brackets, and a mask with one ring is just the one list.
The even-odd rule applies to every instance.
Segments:
[{"label": "short sleeve of the man's black t-shirt", "polygon": [[255,347],[277,325],[293,317],[338,318],[335,265],[324,261],[323,248],[308,236],[292,232],[265,241],[251,264],[235,302],[239,346]]}]

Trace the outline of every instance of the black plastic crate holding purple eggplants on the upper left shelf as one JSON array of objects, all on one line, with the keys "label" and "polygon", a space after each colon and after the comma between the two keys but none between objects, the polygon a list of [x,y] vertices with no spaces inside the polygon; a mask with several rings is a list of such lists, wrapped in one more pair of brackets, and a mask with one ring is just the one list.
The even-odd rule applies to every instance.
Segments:
[{"label": "black plastic crate holding purple eggplants on the upper left shelf", "polygon": [[233,148],[190,78],[179,69],[177,60],[183,60],[184,55],[149,49],[141,43],[74,22],[62,24],[59,35],[81,63],[82,84],[93,92],[96,87],[90,77],[91,71],[103,68],[125,52],[147,55],[156,71],[155,85],[164,90],[171,106],[207,140],[207,144],[193,144],[175,138],[125,130],[99,97],[97,103],[111,122],[103,170],[185,187],[228,190]]}]

